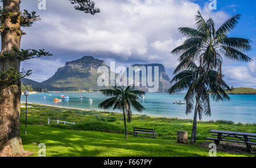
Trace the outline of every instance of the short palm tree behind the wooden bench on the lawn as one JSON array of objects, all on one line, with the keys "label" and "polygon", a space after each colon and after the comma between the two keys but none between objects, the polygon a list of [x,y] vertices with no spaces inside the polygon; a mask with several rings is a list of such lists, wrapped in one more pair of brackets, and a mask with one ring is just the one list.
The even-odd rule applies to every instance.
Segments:
[{"label": "short palm tree behind the wooden bench on the lawn", "polygon": [[127,122],[131,122],[131,108],[142,112],[145,108],[137,101],[139,97],[141,97],[145,92],[138,91],[135,87],[127,87],[124,88],[123,86],[115,86],[112,89],[103,89],[101,90],[102,94],[105,96],[112,96],[107,100],[101,102],[98,107],[103,109],[109,109],[113,107],[113,110],[118,109],[121,110],[123,113],[123,120],[125,122],[125,139],[127,139],[127,127],[126,127],[126,117],[127,114]]}]

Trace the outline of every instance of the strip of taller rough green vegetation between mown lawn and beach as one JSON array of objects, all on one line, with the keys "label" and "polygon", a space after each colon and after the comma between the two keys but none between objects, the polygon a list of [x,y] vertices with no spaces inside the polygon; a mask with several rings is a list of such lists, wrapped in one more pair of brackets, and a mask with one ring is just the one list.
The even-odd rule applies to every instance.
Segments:
[{"label": "strip of taller rough green vegetation between mown lawn and beach", "polygon": [[[101,111],[83,111],[75,109],[64,109],[59,107],[43,106],[37,104],[29,104],[33,106],[27,110],[28,123],[37,125],[46,125],[48,118],[65,120],[67,122],[75,122],[73,124],[63,123],[56,124],[50,122],[50,127],[61,127],[71,130],[87,130],[87,131],[102,131],[123,133],[123,115],[120,113],[109,113]],[[25,122],[25,109],[21,109],[20,113],[21,123]],[[114,119],[115,118],[115,119]],[[111,121],[110,120],[115,120]],[[155,128],[158,133],[158,139],[176,140],[176,131],[188,131],[188,139],[191,139],[191,119],[177,119],[165,117],[150,117],[148,115],[134,115],[131,123],[127,124],[128,134],[133,133],[133,127]],[[238,132],[256,132],[255,124],[235,124],[232,121],[209,121],[198,122],[197,140],[205,140],[210,136],[209,130],[227,130]],[[63,130],[64,131],[64,130]]]}]

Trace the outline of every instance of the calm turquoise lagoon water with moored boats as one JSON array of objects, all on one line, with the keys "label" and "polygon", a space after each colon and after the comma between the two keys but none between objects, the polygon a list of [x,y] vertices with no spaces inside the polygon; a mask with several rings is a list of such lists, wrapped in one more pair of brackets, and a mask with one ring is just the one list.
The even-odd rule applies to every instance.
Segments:
[{"label": "calm turquoise lagoon water with moored boats", "polygon": [[[61,94],[69,96],[69,100],[55,102],[53,98],[60,98]],[[92,98],[93,102],[89,102],[86,98],[80,98],[84,94],[88,98]],[[46,98],[44,98],[44,96]],[[211,101],[212,116],[203,117],[203,120],[232,120],[236,123],[256,123],[256,95],[250,94],[232,94],[231,100],[225,102]],[[28,96],[28,102],[39,104],[73,107],[86,110],[102,110],[98,109],[98,104],[106,99],[101,93],[36,93]],[[173,104],[176,100],[184,99],[184,94],[170,95],[167,93],[147,93],[144,100],[139,100],[146,108],[143,113],[153,116],[163,116],[172,118],[188,118],[192,119],[193,114],[185,114],[185,105]],[[22,101],[25,101],[25,96],[22,95]],[[104,111],[104,110],[102,110]],[[114,111],[112,109],[106,111]],[[116,111],[120,112],[120,111]]]}]

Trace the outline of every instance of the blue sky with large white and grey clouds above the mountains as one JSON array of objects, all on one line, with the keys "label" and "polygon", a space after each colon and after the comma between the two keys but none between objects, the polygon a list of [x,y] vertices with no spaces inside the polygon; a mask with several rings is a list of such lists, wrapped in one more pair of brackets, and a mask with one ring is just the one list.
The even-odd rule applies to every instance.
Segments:
[{"label": "blue sky with large white and grey clouds above the mountains", "polygon": [[[38,3],[46,2],[46,10]],[[21,7],[36,11],[42,20],[23,28],[22,49],[45,49],[53,56],[22,62],[22,68],[33,70],[29,79],[44,81],[65,62],[85,55],[122,66],[135,63],[162,63],[173,77],[178,55],[170,51],[185,38],[177,28],[195,28],[197,11],[205,19],[213,18],[216,28],[233,15],[241,14],[229,37],[249,38],[256,60],[256,1],[216,0],[94,0],[101,12],[95,15],[76,11],[68,0],[23,0]],[[256,63],[233,62],[224,58],[223,74],[228,85],[256,88]]]}]

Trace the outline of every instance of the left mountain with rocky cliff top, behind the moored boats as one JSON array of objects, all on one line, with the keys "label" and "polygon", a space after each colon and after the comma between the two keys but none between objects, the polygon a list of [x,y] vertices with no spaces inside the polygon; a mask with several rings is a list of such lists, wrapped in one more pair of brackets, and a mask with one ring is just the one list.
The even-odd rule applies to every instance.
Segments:
[{"label": "left mountain with rocky cliff top, behind the moored boats", "polygon": [[64,67],[60,67],[52,77],[43,81],[42,84],[54,87],[55,91],[100,91],[104,88],[97,84],[98,76],[101,75],[97,73],[100,66],[106,66],[103,60],[85,56],[75,61],[66,62]]}]

